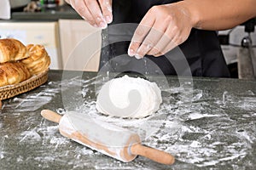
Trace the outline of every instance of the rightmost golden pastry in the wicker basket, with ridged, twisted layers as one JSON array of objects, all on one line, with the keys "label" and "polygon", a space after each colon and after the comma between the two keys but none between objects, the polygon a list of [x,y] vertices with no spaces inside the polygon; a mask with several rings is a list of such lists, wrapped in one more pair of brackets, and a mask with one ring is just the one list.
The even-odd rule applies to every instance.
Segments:
[{"label": "rightmost golden pastry in the wicker basket, with ridged, twisted layers", "polygon": [[47,71],[50,64],[49,55],[43,45],[29,44],[26,46],[29,57],[20,60],[26,65],[32,75]]}]

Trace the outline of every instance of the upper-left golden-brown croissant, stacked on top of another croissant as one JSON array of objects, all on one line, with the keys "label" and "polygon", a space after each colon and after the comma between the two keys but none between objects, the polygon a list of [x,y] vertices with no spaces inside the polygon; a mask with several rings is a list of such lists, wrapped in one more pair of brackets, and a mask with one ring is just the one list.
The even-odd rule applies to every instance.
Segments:
[{"label": "upper-left golden-brown croissant, stacked on top of another croissant", "polygon": [[0,39],[0,63],[28,57],[26,46],[13,38]]}]

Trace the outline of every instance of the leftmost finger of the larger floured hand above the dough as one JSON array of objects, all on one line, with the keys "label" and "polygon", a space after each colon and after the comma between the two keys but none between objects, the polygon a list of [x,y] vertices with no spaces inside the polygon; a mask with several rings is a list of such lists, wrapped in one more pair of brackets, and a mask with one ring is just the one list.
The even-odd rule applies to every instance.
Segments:
[{"label": "leftmost finger of the larger floured hand above the dough", "polygon": [[154,26],[154,17],[151,17],[150,14],[146,14],[139,26],[137,26],[137,29],[131,38],[131,43],[128,48],[128,54],[130,56],[137,54],[137,49],[139,48],[141,42],[143,42],[143,39],[147,36],[148,32],[151,30],[152,26]]}]

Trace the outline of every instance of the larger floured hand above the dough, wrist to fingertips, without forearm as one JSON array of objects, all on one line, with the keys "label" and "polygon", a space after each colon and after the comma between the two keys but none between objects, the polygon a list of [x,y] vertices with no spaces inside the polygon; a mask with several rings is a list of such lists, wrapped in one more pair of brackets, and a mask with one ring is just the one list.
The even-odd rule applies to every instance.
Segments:
[{"label": "larger floured hand above the dough, wrist to fingertips, without forearm", "polygon": [[128,54],[137,59],[166,54],[189,37],[192,27],[186,8],[175,3],[154,6],[137,26]]}]

